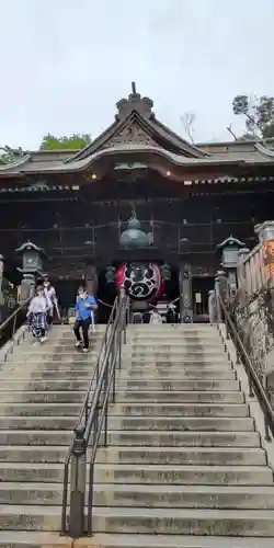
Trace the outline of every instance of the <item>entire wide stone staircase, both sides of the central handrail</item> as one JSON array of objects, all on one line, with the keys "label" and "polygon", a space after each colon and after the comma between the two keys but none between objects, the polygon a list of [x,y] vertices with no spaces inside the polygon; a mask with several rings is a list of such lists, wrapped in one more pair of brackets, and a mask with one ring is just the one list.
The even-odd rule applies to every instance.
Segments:
[{"label": "entire wide stone staircase, both sides of the central handrail", "polygon": [[128,330],[110,446],[98,450],[92,538],[58,535],[92,355],[76,354],[64,327],[4,364],[0,548],[273,548],[273,471],[217,328]]}]

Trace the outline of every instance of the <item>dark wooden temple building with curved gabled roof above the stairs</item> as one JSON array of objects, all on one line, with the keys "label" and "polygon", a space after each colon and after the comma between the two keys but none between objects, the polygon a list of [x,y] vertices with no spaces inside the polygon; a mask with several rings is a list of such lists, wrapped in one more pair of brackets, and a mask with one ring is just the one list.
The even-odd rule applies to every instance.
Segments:
[{"label": "dark wooden temple building with curved gabled roof above the stairs", "polygon": [[232,235],[251,248],[254,226],[273,218],[273,144],[193,145],[152,107],[133,84],[113,124],[84,149],[31,151],[0,167],[0,253],[10,276],[15,249],[31,240],[48,258],[64,307],[83,278],[109,304],[124,279],[136,299],[179,298],[182,318],[207,319],[216,247]]}]

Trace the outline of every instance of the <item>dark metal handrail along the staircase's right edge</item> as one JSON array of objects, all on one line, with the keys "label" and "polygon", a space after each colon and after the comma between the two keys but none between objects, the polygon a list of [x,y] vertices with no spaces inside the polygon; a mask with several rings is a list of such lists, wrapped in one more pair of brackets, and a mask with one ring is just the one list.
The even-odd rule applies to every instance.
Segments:
[{"label": "dark metal handrail along the staircase's right edge", "polygon": [[272,438],[270,436],[269,431],[271,431],[272,435],[274,436],[274,410],[270,402],[267,390],[265,390],[263,384],[261,383],[261,379],[254,368],[252,359],[250,358],[246,350],[246,346],[237,331],[235,322],[231,319],[230,313],[226,308],[226,305],[224,304],[220,295],[218,295],[218,300],[225,319],[227,339],[229,338],[230,334],[237,351],[237,363],[239,364],[241,359],[243,364],[243,367],[249,378],[250,396],[253,396],[253,390],[254,390],[258,397],[259,404],[264,414],[265,438],[269,442],[271,442]]}]

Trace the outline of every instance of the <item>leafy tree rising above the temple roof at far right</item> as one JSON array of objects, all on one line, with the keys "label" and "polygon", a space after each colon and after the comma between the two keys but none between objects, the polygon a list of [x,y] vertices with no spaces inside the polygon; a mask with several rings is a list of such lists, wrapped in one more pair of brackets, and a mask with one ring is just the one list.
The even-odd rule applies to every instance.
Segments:
[{"label": "leafy tree rising above the temple roof at far right", "polygon": [[232,102],[233,113],[246,116],[247,139],[266,139],[274,137],[274,98],[262,95],[249,98],[236,95]]}]

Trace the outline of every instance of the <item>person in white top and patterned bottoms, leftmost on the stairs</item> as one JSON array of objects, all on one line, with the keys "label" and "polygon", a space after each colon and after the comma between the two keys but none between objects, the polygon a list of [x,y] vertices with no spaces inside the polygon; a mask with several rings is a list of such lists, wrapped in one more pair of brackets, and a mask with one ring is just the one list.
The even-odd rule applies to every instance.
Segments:
[{"label": "person in white top and patterned bottoms, leftmost on the stairs", "polygon": [[30,318],[31,330],[36,341],[47,341],[47,299],[43,286],[36,287],[36,295],[31,300],[26,317]]}]

